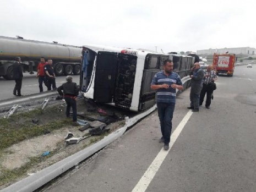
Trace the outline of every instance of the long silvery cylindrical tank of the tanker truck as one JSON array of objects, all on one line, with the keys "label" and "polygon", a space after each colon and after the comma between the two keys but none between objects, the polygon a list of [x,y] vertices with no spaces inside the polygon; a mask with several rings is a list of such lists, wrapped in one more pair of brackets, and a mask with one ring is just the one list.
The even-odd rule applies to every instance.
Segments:
[{"label": "long silvery cylindrical tank of the tanker truck", "polygon": [[0,60],[14,60],[17,56],[23,61],[39,61],[45,57],[59,62],[80,62],[81,48],[0,36]]}]

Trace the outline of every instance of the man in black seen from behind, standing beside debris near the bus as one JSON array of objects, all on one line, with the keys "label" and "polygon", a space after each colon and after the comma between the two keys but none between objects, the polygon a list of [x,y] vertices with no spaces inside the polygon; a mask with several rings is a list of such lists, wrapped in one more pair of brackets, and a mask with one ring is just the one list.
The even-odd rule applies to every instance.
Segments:
[{"label": "man in black seen from behind, standing beside debris near the bus", "polygon": [[68,75],[66,77],[67,82],[59,86],[57,91],[59,95],[64,97],[67,103],[66,116],[70,116],[70,107],[72,107],[73,123],[74,125],[79,125],[77,123],[77,96],[79,94],[79,88],[76,83],[72,82],[72,79],[72,76]]}]

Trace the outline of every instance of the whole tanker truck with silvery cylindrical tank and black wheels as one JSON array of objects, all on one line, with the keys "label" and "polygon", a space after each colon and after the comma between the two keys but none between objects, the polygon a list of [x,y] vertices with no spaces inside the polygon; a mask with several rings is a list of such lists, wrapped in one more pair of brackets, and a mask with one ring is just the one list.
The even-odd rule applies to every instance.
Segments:
[{"label": "whole tanker truck with silvery cylindrical tank and black wheels", "polygon": [[13,79],[15,57],[21,58],[23,72],[34,74],[41,57],[52,59],[55,75],[79,75],[81,71],[81,47],[57,42],[25,40],[22,37],[0,36],[0,77]]}]

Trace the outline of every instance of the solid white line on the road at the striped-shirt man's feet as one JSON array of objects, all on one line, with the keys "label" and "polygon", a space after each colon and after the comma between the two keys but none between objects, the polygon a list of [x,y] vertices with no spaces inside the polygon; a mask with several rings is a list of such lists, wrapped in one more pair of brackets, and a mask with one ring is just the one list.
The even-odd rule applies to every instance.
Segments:
[{"label": "solid white line on the road at the striped-shirt man's feet", "polygon": [[186,116],[181,120],[178,127],[173,131],[171,135],[171,142],[170,142],[170,148],[168,151],[164,150],[164,148],[161,149],[161,151],[157,154],[154,161],[150,164],[149,168],[146,170],[144,175],[140,178],[137,185],[133,188],[132,192],[139,191],[143,192],[148,188],[151,180],[155,177],[156,172],[160,168],[162,162],[164,162],[165,157],[168,155],[168,152],[171,150],[173,144],[175,143],[176,139],[178,138],[179,134],[181,133],[182,129],[187,124],[189,118],[192,116],[193,112],[189,110],[189,112],[186,114]]}]

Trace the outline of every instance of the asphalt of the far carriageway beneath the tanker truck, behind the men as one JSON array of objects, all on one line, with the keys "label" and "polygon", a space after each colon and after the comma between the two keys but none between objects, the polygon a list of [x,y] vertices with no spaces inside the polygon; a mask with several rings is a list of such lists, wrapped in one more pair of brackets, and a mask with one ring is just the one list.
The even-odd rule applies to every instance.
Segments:
[{"label": "asphalt of the far carriageway beneath the tanker truck, behind the men", "polygon": [[[39,93],[39,83],[35,74],[30,75],[28,72],[23,73],[24,78],[22,81],[21,95],[31,95]],[[73,75],[73,81],[79,85],[79,75]],[[56,77],[56,86],[62,85],[66,82],[66,76]],[[15,98],[13,95],[13,89],[15,86],[14,80],[6,80],[0,78],[0,100],[6,100],[8,98]],[[47,91],[47,87],[43,85],[43,91]]]}]

